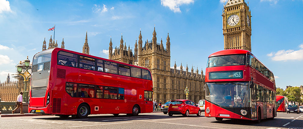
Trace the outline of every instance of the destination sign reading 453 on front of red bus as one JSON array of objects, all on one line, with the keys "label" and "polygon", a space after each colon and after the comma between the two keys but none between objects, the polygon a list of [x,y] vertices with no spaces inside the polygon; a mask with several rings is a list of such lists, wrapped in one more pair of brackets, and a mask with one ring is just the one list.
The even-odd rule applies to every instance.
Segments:
[{"label": "destination sign reading 453 on front of red bus", "polygon": [[243,78],[243,71],[209,72],[209,79],[239,79]]}]

